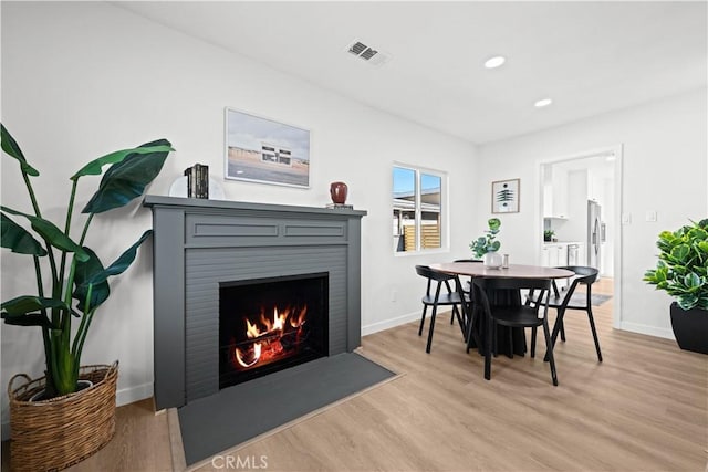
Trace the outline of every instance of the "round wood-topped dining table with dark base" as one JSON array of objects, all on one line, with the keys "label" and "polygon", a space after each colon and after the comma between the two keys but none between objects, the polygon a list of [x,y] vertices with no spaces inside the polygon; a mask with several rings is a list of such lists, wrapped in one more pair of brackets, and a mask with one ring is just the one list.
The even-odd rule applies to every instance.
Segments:
[{"label": "round wood-topped dining table with dark base", "polygon": [[[545,268],[542,265],[524,265],[524,264],[509,264],[508,268],[486,268],[481,262],[442,262],[430,264],[430,269],[439,272],[445,272],[454,275],[467,275],[470,277],[494,277],[494,279],[569,279],[575,275],[574,272],[558,269]],[[490,302],[498,305],[520,305],[521,294],[519,291],[503,291],[503,293],[488,294]],[[469,323],[472,322],[472,314],[467,306],[462,307],[468,316]],[[477,318],[477,317],[475,317]],[[482,339],[483,319],[475,319],[475,327],[470,326],[469,336],[467,340],[468,349],[470,347],[478,347],[481,354],[481,347],[473,339]],[[471,336],[472,329],[477,333],[477,336]],[[499,326],[497,332],[497,344],[499,352],[506,352],[508,357],[513,357],[514,354],[523,356],[527,350],[527,339],[523,328],[513,328],[511,335],[511,345],[509,345],[509,334],[504,326]]]}]

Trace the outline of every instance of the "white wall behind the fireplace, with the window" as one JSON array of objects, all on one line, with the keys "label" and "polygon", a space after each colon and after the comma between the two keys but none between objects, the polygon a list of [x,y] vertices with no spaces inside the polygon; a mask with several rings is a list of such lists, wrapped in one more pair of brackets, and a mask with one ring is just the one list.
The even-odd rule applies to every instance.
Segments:
[{"label": "white wall behind the fireplace, with the window", "polygon": [[[324,207],[329,183],[348,183],[363,220],[362,294],[365,332],[419,313],[416,263],[468,256],[477,207],[470,206],[475,147],[314,87],[243,56],[150,23],[106,3],[2,3],[2,123],[40,169],[34,179],[45,216],[62,221],[69,177],[107,151],[165,137],[177,149],[149,189],[167,195],[183,169],[207,164],[222,177],[223,107],[312,130],[311,188],[223,181],[230,200]],[[2,202],[30,210],[17,162],[2,159]],[[392,162],[449,171],[451,253],[394,258],[391,248]],[[85,202],[97,178],[83,179]],[[146,229],[150,213],[135,203],[100,216],[87,238],[106,262]],[[2,254],[2,300],[32,293],[27,258]],[[152,259],[143,250],[114,279],[83,364],[121,361],[119,402],[152,396]],[[395,292],[396,301],[392,301]],[[38,328],[2,327],[2,375],[43,371]],[[7,398],[2,398],[7,421]]]}]

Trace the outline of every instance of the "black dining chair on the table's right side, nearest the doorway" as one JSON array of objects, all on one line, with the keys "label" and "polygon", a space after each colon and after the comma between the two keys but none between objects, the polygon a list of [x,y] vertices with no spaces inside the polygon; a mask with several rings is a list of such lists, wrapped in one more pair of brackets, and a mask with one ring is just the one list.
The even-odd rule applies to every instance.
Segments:
[{"label": "black dining chair on the table's right side, nearest the doorway", "polygon": [[[558,285],[555,281],[553,282],[553,292],[549,293],[548,305],[551,308],[555,308],[558,311],[558,316],[555,317],[555,323],[553,325],[553,334],[551,336],[551,342],[553,346],[555,346],[555,340],[558,338],[559,333],[561,334],[561,339],[565,342],[565,327],[563,326],[563,317],[565,316],[565,312],[568,310],[580,310],[587,313],[587,319],[590,322],[590,329],[593,334],[593,340],[595,342],[595,352],[597,353],[597,360],[602,363],[602,352],[600,350],[600,340],[597,338],[597,329],[595,329],[595,319],[593,318],[593,308],[592,308],[592,286],[597,280],[598,271],[595,268],[589,268],[584,265],[564,265],[559,266],[558,269],[565,269],[568,271],[572,271],[575,275],[571,279],[571,284],[568,287],[565,294],[561,294],[558,290]],[[585,294],[575,293],[575,289],[579,285],[585,286]],[[527,303],[537,304],[539,302],[540,295],[534,293],[529,293],[527,297]],[[533,329],[531,334],[531,345],[535,339],[535,329]]]}]

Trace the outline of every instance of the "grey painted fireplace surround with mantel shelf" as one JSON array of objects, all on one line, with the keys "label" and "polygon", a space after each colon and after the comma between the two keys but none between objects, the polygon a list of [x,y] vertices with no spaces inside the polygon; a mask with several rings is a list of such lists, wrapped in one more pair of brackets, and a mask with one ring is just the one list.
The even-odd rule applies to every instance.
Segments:
[{"label": "grey painted fireplace surround with mantel shelf", "polygon": [[158,409],[218,391],[220,281],[329,272],[330,356],[360,346],[366,211],[159,196],[145,197],[144,206],[155,230]]}]

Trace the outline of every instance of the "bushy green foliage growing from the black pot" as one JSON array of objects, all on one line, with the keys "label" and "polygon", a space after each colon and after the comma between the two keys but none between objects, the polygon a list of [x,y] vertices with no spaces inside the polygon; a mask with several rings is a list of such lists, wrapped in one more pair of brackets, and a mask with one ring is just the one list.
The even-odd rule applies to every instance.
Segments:
[{"label": "bushy green foliage growing from the black pot", "polygon": [[684,310],[708,310],[708,219],[691,223],[659,233],[659,260],[644,281],[666,291]]}]

